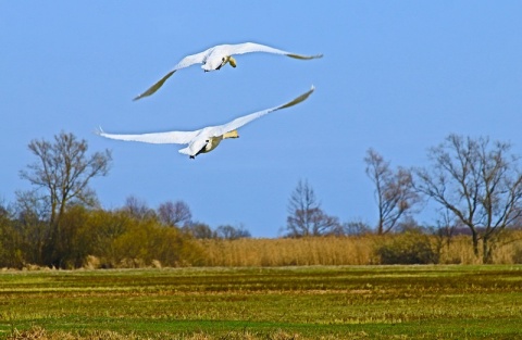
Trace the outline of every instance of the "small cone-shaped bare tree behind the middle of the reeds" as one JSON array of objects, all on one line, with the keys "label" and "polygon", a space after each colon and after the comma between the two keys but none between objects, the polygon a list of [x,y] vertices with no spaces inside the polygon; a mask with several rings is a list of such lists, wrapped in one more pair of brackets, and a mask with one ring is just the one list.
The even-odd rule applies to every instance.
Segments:
[{"label": "small cone-shaped bare tree behind the middle of the reeds", "polygon": [[289,237],[323,236],[338,232],[339,219],[326,215],[308,181],[299,180],[288,203],[286,230]]}]

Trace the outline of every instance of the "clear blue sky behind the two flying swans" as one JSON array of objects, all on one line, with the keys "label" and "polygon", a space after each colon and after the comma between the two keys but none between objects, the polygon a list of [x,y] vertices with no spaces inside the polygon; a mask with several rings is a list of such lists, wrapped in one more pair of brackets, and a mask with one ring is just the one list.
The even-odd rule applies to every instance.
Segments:
[{"label": "clear blue sky behind the two flying swans", "polygon": [[[327,214],[373,225],[369,148],[393,166],[422,166],[457,133],[522,153],[521,13],[521,1],[2,1],[0,199],[29,188],[18,177],[34,161],[29,141],[64,130],[112,150],[109,176],[91,182],[107,209],[128,196],[151,207],[183,200],[211,227],[276,237],[308,179]],[[246,41],[324,58],[239,55],[235,70],[192,66],[132,101],[183,56]],[[222,124],[312,84],[308,101],[196,160],[179,146],[92,134]]]}]

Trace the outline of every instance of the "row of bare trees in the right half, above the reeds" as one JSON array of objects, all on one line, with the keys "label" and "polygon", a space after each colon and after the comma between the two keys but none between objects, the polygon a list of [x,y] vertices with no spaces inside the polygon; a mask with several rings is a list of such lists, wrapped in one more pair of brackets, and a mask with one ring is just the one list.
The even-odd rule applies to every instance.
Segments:
[{"label": "row of bare trees in the right half, above the reeds", "polygon": [[375,188],[375,228],[363,223],[340,225],[336,217],[323,213],[308,184],[299,182],[290,197],[288,235],[346,235],[353,230],[384,235],[421,229],[413,215],[432,200],[439,218],[431,230],[447,238],[469,232],[475,256],[492,263],[501,236],[522,226],[521,158],[511,149],[510,143],[492,142],[486,137],[449,135],[428,149],[430,167],[396,169],[370,149],[364,163]]}]

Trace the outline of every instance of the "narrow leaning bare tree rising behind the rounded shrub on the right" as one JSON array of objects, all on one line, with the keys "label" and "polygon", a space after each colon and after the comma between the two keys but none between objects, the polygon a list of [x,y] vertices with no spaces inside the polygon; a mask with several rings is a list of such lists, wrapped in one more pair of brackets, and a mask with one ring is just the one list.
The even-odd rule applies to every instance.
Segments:
[{"label": "narrow leaning bare tree rising behind the rounded shrub on the right", "polygon": [[420,197],[413,188],[410,171],[401,167],[396,172],[391,171],[389,162],[373,149],[366,151],[364,163],[366,175],[375,185],[377,234],[383,235],[393,230],[401,218],[407,217],[420,202]]}]

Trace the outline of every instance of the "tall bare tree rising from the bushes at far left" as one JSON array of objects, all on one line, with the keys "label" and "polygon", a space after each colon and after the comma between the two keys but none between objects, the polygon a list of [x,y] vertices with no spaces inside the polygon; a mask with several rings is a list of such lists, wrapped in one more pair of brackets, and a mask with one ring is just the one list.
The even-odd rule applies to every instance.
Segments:
[{"label": "tall bare tree rising from the bushes at far left", "polygon": [[87,155],[87,142],[78,141],[73,134],[61,133],[54,136],[54,142],[33,140],[28,144],[29,151],[37,161],[21,171],[20,176],[27,179],[44,191],[44,199],[49,206],[50,242],[52,265],[61,265],[62,226],[60,222],[64,213],[73,203],[92,206],[96,204],[96,194],[89,189],[89,181],[97,176],[109,173],[111,153],[95,152]]}]

